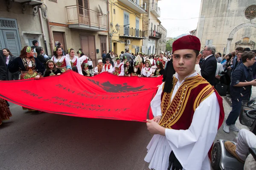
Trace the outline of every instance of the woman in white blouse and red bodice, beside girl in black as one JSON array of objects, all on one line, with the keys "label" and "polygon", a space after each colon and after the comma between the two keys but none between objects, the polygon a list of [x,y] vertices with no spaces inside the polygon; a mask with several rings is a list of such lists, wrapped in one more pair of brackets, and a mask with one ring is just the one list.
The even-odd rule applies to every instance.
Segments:
[{"label": "woman in white blouse and red bodice, beside girl in black", "polygon": [[72,69],[69,58],[63,55],[62,48],[60,46],[56,46],[54,48],[51,60],[55,63],[56,67],[61,70],[62,73],[68,69]]}]

